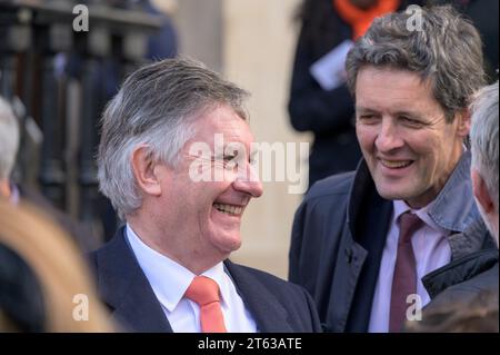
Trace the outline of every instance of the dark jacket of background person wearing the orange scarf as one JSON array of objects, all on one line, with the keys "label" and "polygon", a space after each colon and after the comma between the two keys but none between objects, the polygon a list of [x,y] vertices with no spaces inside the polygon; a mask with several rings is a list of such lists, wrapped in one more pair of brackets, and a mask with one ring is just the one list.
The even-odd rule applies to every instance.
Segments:
[{"label": "dark jacket of background person wearing the orange scarf", "polygon": [[[324,8],[321,39],[314,40],[308,27],[319,23],[302,23],[296,49],[288,111],[291,125],[298,131],[314,134],[309,157],[309,186],[332,174],[350,171],[361,157],[354,130],[354,105],[346,85],[323,90],[309,69],[313,62],[352,38],[351,28],[336,13],[331,0]],[[320,6],[320,4],[317,4]]]}]

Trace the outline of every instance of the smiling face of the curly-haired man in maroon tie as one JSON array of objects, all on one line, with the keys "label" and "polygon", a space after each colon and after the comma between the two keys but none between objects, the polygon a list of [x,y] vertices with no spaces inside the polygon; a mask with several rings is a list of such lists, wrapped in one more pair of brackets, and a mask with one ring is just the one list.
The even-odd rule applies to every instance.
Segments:
[{"label": "smiling face of the curly-haired man in maroon tie", "polygon": [[362,68],[356,99],[358,140],[378,193],[427,206],[460,159],[466,118],[448,124],[430,86],[404,70]]}]

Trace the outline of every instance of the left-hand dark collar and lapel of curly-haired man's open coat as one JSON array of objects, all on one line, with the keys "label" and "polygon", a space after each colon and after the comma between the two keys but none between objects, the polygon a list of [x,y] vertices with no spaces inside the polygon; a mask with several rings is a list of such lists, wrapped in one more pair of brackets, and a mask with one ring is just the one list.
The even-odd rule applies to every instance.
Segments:
[{"label": "left-hand dark collar and lapel of curly-haired man's open coat", "polygon": [[392,214],[392,203],[377,194],[364,160],[349,196],[327,314],[330,332],[367,331]]}]

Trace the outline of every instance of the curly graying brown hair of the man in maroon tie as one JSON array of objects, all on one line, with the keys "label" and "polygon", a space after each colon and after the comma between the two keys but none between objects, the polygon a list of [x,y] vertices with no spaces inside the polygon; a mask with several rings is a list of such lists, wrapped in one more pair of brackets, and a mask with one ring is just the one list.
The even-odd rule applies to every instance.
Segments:
[{"label": "curly graying brown hair of the man in maroon tie", "polygon": [[348,55],[348,86],[356,97],[357,76],[364,66],[416,72],[422,81],[429,80],[451,122],[486,85],[481,37],[451,6],[420,10],[421,29],[410,26],[412,13],[404,11],[373,21]]}]

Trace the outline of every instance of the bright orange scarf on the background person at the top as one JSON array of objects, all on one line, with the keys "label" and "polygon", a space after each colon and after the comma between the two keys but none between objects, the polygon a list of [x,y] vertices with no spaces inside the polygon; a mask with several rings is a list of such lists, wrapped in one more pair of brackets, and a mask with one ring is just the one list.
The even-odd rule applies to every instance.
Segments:
[{"label": "bright orange scarf on the background person at the top", "polygon": [[373,7],[362,10],[353,6],[349,0],[333,0],[333,7],[339,16],[351,26],[353,39],[356,40],[368,31],[376,18],[394,12],[399,8],[400,2],[400,0],[379,0]]}]

